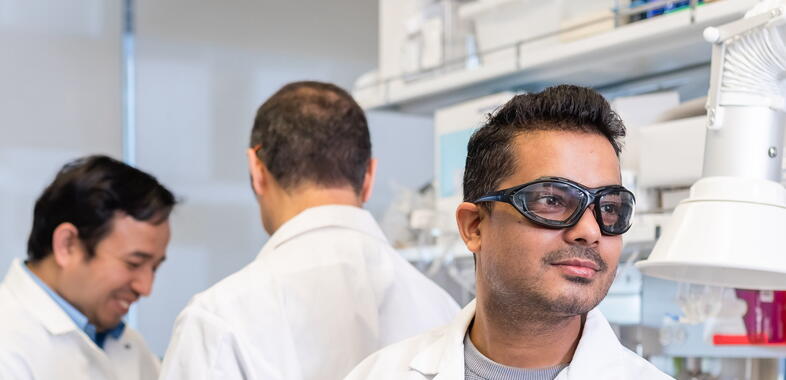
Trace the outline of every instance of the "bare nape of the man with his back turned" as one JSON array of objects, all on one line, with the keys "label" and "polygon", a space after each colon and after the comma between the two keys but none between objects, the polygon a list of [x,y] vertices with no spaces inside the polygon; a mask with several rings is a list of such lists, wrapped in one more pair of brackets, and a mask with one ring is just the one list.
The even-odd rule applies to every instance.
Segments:
[{"label": "bare nape of the man with his back turned", "polygon": [[287,192],[282,191],[278,198],[279,201],[273,215],[273,231],[271,231],[271,234],[290,219],[313,207],[328,205],[362,206],[359,196],[351,187],[323,188],[306,186]]}]

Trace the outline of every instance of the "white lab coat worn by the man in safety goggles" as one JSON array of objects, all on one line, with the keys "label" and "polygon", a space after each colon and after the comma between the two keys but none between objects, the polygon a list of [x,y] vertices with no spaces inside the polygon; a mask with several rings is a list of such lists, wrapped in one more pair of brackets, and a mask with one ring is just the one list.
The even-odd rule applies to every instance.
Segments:
[{"label": "white lab coat worn by the man in safety goggles", "polygon": [[[345,380],[464,380],[464,336],[475,317],[470,302],[448,325],[407,339],[363,360]],[[556,380],[671,379],[620,344],[598,310],[587,314],[570,365]]]}]

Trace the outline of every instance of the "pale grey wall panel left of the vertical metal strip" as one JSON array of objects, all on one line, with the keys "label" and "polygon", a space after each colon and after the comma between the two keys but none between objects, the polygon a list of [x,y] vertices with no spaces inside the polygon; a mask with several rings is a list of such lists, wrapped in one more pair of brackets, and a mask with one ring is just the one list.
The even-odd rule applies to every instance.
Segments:
[{"label": "pale grey wall panel left of the vertical metal strip", "polygon": [[0,275],[68,160],[120,156],[120,1],[0,0]]}]

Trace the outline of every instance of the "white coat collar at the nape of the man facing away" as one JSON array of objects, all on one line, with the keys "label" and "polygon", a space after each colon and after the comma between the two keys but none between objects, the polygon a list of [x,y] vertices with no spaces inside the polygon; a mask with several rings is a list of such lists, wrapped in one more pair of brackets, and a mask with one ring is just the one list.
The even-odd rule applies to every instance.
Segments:
[{"label": "white coat collar at the nape of the man facing away", "polygon": [[325,227],[351,228],[387,243],[385,234],[368,211],[355,206],[327,205],[308,208],[295,215],[273,233],[265,246],[275,249],[300,234]]}]

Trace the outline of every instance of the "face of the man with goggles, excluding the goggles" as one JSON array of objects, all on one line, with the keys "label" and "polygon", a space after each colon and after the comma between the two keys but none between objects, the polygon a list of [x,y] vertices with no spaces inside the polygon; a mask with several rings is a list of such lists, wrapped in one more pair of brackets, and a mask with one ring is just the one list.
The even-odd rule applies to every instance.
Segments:
[{"label": "face of the man with goggles, excluding the goggles", "polygon": [[[589,188],[620,182],[614,148],[601,135],[529,132],[516,137],[513,148],[515,172],[498,189],[546,176]],[[478,226],[479,297],[505,313],[526,310],[561,317],[594,308],[614,280],[622,238],[601,234],[592,207],[575,226],[549,229],[528,221],[509,204],[494,203],[493,212]]]}]

